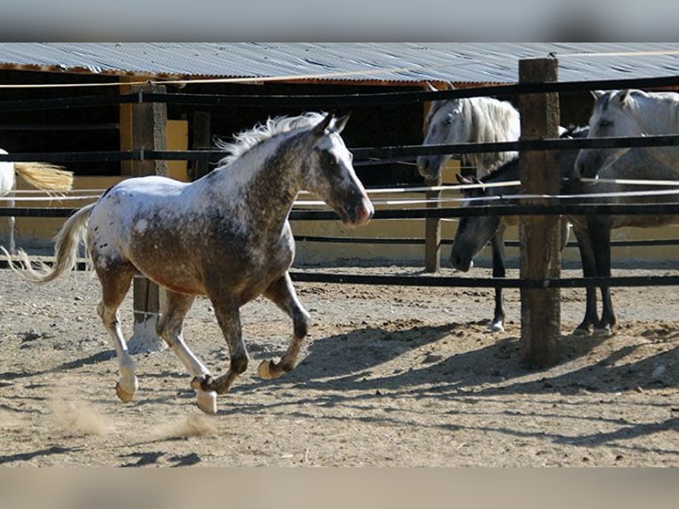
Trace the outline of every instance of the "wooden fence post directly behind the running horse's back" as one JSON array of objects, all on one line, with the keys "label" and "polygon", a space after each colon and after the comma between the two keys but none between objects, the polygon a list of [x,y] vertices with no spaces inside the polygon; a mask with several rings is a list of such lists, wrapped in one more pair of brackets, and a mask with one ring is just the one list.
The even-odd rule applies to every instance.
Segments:
[{"label": "wooden fence post directly behind the running horse's back", "polygon": [[[162,85],[132,87],[134,92],[164,93]],[[144,150],[165,150],[165,128],[168,123],[167,107],[163,103],[134,103],[131,105],[131,148]],[[165,161],[132,161],[132,176],[168,176]],[[155,331],[160,315],[161,292],[158,285],[147,278],[136,276],[133,282],[133,307],[135,315],[134,332],[128,341],[132,353],[159,351],[167,348]]]}]

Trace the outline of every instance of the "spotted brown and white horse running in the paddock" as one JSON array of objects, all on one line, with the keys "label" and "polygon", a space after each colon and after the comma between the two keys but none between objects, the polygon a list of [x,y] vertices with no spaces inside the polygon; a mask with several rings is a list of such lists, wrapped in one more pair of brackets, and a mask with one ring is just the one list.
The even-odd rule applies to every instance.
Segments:
[{"label": "spotted brown and white horse running in the paddock", "polygon": [[[373,215],[340,137],[346,121],[316,113],[269,119],[222,144],[230,155],[191,184],[162,176],[116,184],[66,221],[56,238],[52,269],[32,269],[21,254],[20,274],[47,282],[70,270],[86,229],[103,292],[98,314],[121,372],[118,396],[129,401],[137,390],[118,309],[133,276],[141,273],[167,290],[157,332],[193,376],[199,408],[215,413],[216,395],[226,393],[248,363],[241,306],[263,294],[293,320],[285,355],[259,365],[263,378],[291,371],[307,335],[309,315],[288,274],[294,256],[288,215],[298,192],[316,193],[347,225],[367,223]],[[201,294],[212,301],[230,352],[228,372],[216,378],[183,341],[184,317]]]}]

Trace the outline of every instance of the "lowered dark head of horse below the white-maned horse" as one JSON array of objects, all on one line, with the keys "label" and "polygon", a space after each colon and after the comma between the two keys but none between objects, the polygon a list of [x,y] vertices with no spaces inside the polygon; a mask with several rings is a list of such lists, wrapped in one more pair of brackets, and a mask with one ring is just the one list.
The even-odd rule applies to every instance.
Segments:
[{"label": "lowered dark head of horse below the white-maned horse", "polygon": [[[484,188],[478,178],[457,175],[457,182],[474,186],[470,189],[464,189],[464,198],[480,199],[475,201],[474,205],[486,205],[482,199],[490,196],[492,191],[489,188]],[[465,201],[462,207],[467,207],[469,203],[469,201]],[[453,246],[450,249],[450,262],[453,267],[464,272],[470,270],[474,265],[474,256],[478,255],[496,234],[500,227],[500,221],[499,215],[466,215],[461,217],[459,223],[457,223]]]}]

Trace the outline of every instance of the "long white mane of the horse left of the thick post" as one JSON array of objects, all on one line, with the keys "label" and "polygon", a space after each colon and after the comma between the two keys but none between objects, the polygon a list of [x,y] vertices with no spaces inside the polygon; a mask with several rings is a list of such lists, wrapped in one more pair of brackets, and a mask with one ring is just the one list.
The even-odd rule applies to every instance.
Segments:
[{"label": "long white mane of the horse left of the thick post", "polygon": [[[519,111],[511,103],[496,98],[469,98],[465,121],[472,126],[471,143],[515,141],[520,135]],[[470,153],[464,156],[481,171],[496,168],[517,156],[515,152]]]}]

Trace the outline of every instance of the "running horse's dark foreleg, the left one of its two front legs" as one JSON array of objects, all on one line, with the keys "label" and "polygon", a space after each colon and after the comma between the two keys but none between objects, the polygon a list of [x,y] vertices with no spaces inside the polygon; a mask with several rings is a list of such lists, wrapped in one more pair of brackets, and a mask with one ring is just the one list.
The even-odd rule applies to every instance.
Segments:
[{"label": "running horse's dark foreleg, the left one of its two front legs", "polygon": [[217,394],[226,394],[238,375],[247,369],[247,350],[243,342],[238,301],[230,297],[215,297],[215,295],[210,295],[210,300],[215,307],[217,323],[229,347],[229,370],[217,378],[210,375],[198,376],[191,382],[191,387],[206,392],[215,391]]}]

